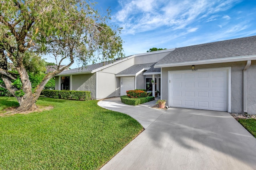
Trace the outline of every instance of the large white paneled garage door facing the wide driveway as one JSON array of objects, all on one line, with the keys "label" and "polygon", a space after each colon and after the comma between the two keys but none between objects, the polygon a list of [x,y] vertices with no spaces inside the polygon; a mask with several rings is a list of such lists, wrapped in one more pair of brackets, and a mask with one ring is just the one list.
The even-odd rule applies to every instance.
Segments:
[{"label": "large white paneled garage door facing the wide driveway", "polygon": [[227,111],[227,69],[169,72],[169,80],[169,106]]}]

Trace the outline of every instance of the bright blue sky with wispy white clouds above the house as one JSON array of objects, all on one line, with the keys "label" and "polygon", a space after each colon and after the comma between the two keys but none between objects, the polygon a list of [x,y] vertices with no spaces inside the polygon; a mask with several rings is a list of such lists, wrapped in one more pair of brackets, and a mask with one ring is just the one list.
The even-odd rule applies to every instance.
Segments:
[{"label": "bright blue sky with wispy white clouds above the house", "polygon": [[[256,35],[256,0],[95,0],[123,27],[126,56]],[[71,68],[77,67],[73,64]]]}]

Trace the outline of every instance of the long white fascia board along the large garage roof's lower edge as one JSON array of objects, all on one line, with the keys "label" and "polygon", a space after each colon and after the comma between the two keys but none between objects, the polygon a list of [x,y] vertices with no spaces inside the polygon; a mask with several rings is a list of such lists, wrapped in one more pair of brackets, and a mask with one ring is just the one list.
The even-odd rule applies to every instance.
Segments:
[{"label": "long white fascia board along the large garage roof's lower edge", "polygon": [[200,61],[188,61],[188,62],[182,62],[182,63],[156,64],[154,65],[154,68],[214,64],[214,63],[229,63],[229,62],[238,62],[238,61],[247,61],[247,60],[256,60],[256,55],[246,55],[246,56],[239,56],[239,57],[228,57],[228,58],[222,58],[222,59],[210,59],[210,60],[200,60]]}]

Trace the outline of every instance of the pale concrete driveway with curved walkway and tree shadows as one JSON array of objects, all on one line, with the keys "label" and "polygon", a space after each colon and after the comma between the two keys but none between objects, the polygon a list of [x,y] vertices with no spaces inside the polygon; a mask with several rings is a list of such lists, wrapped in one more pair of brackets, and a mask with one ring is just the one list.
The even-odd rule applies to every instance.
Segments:
[{"label": "pale concrete driveway with curved walkway and tree shadows", "polygon": [[149,107],[154,104],[128,106],[120,98],[98,102],[134,117],[145,128],[102,170],[256,169],[256,139],[229,113]]}]

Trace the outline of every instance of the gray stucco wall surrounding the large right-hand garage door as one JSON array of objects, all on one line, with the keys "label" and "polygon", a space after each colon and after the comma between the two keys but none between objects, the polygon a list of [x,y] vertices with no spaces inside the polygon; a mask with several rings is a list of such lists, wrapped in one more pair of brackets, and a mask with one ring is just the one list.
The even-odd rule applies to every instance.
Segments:
[{"label": "gray stucco wall surrounding the large right-hand garage door", "polygon": [[[246,61],[196,65],[197,69],[231,67],[231,112],[243,113],[243,69]],[[162,99],[168,100],[168,71],[191,70],[191,66],[162,68]],[[247,70],[248,113],[256,114],[256,61]],[[168,101],[166,102],[168,103]]]}]

